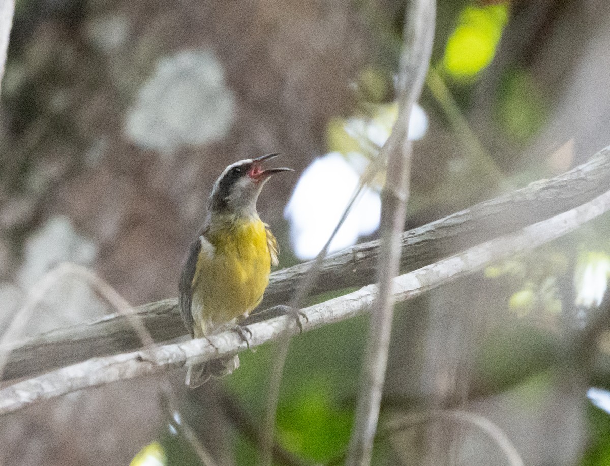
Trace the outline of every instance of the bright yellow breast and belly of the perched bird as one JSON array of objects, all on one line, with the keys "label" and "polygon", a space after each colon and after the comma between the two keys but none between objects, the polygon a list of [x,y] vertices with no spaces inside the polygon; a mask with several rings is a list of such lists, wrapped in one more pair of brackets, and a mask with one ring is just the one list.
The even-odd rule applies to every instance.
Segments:
[{"label": "bright yellow breast and belly of the perched bird", "polygon": [[199,254],[192,312],[203,335],[211,335],[259,305],[269,284],[271,256],[265,224],[258,218],[221,224],[206,237],[214,253]]}]

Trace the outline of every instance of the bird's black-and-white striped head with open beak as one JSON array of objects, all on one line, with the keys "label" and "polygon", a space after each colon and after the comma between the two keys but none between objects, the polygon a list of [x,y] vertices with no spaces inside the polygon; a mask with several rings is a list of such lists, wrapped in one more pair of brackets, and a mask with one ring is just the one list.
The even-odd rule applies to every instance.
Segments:
[{"label": "bird's black-and-white striped head with open beak", "polygon": [[292,168],[267,168],[262,165],[280,154],[267,154],[256,159],[243,159],[224,169],[216,180],[207,208],[210,212],[256,213],[258,199],[263,185],[275,173],[293,171]]}]

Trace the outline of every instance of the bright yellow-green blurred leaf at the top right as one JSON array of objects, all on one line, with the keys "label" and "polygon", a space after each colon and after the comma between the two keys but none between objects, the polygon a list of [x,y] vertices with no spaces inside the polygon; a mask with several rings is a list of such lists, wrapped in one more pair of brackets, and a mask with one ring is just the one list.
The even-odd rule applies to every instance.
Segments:
[{"label": "bright yellow-green blurred leaf at the top right", "polygon": [[465,7],[447,41],[442,59],[448,76],[459,82],[472,82],[492,62],[508,18],[508,2]]}]

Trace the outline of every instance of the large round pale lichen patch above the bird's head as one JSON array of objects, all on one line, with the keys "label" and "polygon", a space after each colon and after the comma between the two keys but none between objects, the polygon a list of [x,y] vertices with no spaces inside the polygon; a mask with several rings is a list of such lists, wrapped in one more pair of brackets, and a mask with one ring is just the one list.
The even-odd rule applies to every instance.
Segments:
[{"label": "large round pale lichen patch above the bird's head", "polygon": [[235,96],[211,51],[182,51],[159,60],[127,112],[124,131],[142,149],[171,156],[226,136],[235,120]]}]

